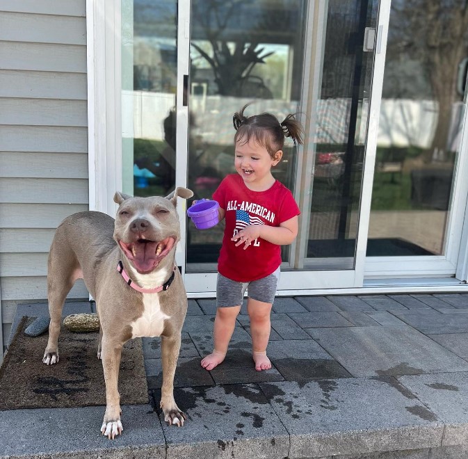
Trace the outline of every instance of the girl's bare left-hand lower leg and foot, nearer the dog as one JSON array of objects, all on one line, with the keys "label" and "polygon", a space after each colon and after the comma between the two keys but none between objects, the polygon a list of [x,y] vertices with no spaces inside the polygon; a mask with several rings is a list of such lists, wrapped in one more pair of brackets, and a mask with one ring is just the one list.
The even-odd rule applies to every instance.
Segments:
[{"label": "girl's bare left-hand lower leg and foot, nearer the dog", "polygon": [[210,355],[202,359],[201,364],[204,369],[212,370],[223,362],[240,311],[240,306],[218,307],[216,310],[213,330],[214,349]]}]

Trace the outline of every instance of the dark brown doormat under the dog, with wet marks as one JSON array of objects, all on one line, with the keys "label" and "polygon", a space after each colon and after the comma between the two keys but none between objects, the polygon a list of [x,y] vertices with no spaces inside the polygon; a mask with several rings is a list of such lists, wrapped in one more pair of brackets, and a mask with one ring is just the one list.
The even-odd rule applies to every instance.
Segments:
[{"label": "dark brown doormat under the dog, with wet marks", "polygon": [[[49,335],[29,337],[24,317],[0,367],[0,410],[76,408],[106,405],[102,361],[97,359],[99,333],[73,333],[65,327],[58,339],[58,364],[42,363]],[[141,339],[128,341],[119,373],[120,403],[148,403]]]}]

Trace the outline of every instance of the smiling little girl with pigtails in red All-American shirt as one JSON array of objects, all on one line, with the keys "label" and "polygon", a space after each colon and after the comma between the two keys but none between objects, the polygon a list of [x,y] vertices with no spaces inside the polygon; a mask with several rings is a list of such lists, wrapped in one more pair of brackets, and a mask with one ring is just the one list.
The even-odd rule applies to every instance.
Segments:
[{"label": "smiling little girl with pigtails in red All-American shirt", "polygon": [[225,359],[247,288],[255,369],[271,368],[266,346],[280,276],[280,246],[289,245],[298,233],[298,205],[271,168],[282,159],[285,137],[302,144],[302,126],[294,115],[281,123],[271,113],[247,117],[246,107],[233,118],[237,174],[227,175],[213,193],[226,226],[218,259],[214,349],[201,362],[207,370]]}]

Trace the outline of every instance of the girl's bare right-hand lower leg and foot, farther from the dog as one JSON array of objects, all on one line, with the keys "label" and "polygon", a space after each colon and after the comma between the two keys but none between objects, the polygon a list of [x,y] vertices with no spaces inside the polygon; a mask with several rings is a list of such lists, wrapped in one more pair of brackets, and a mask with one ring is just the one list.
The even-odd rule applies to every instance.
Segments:
[{"label": "girl's bare right-hand lower leg and foot, farther from the dog", "polygon": [[271,362],[266,355],[266,346],[270,339],[270,313],[272,303],[248,298],[247,312],[250,317],[250,335],[252,335],[252,357],[257,371],[271,369]]}]

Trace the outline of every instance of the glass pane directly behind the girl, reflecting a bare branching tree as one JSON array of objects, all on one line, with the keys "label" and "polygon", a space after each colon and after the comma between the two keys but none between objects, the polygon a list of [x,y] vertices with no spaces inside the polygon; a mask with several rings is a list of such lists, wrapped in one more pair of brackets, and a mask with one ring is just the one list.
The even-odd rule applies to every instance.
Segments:
[{"label": "glass pane directly behind the girl, reflecting a bare branching tree", "polygon": [[[191,1],[188,187],[211,198],[234,170],[232,115],[300,111],[307,1]],[[294,191],[297,150],[287,140],[273,175]],[[186,271],[216,271],[223,225],[200,232],[188,220]],[[288,259],[284,248],[283,259]]]}]

